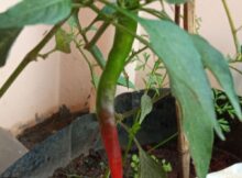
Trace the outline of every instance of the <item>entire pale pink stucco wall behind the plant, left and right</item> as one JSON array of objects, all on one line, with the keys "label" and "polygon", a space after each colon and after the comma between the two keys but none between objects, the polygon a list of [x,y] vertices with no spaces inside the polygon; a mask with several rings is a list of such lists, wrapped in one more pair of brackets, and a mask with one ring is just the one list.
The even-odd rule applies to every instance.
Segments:
[{"label": "entire pale pink stucco wall behind the plant, left and right", "polygon": [[[16,1],[1,0],[0,12]],[[242,1],[230,0],[229,5],[235,23],[241,25],[240,7],[242,7]],[[197,0],[197,13],[202,20],[200,34],[224,54],[232,54],[234,52],[233,42],[221,1]],[[92,12],[84,10],[80,13],[81,23],[87,24],[94,16]],[[46,30],[50,30],[50,26],[35,25],[24,29],[11,51],[8,64],[0,68],[0,86],[14,70],[23,56],[40,42]],[[240,32],[239,35],[242,41],[242,33]],[[109,29],[98,42],[106,57],[112,43],[111,36],[113,36],[113,29]],[[54,42],[51,42],[45,51],[51,49],[53,45]],[[135,47],[139,45],[135,43]],[[135,64],[129,66],[127,71],[130,73],[131,80],[135,80],[138,86],[142,87],[140,79],[142,74],[135,73],[134,68]],[[241,76],[234,74],[234,79],[237,89],[242,94]],[[217,86],[215,81],[212,84]],[[34,123],[36,119],[40,121],[42,118],[56,112],[62,104],[66,104],[73,111],[88,107],[94,109],[95,93],[92,91],[89,69],[79,52],[73,49],[70,55],[55,53],[46,60],[38,59],[38,62],[31,63],[0,99],[0,126],[15,132],[26,123]],[[122,91],[123,88],[119,87],[118,92]]]}]

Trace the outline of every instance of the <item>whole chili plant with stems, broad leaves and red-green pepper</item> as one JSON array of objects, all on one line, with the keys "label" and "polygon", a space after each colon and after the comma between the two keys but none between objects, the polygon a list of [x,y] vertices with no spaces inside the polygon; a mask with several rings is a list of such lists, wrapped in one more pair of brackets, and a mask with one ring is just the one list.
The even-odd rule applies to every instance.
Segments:
[{"label": "whole chili plant with stems, broad leaves and red-green pepper", "polygon": [[[129,55],[133,55],[131,53],[132,43],[136,38],[144,44],[145,48],[150,48],[157,56],[167,70],[172,93],[176,98],[180,111],[180,129],[189,143],[189,152],[194,159],[197,176],[205,178],[211,157],[213,131],[220,138],[224,138],[216,119],[213,96],[205,68],[211,70],[216,76],[233,105],[238,118],[242,119],[229,65],[223,55],[204,37],[189,34],[176,25],[172,18],[167,15],[165,9],[157,11],[146,7],[154,1],[164,7],[165,1],[178,5],[187,3],[188,0],[117,0],[113,3],[108,0],[22,0],[6,12],[0,13],[1,67],[6,64],[12,44],[25,25],[40,23],[54,25],[40,44],[23,58],[14,73],[1,87],[0,98],[31,62],[36,60],[37,57],[46,57],[46,55],[43,56],[40,53],[53,36],[56,35],[57,44],[55,49],[69,53],[69,43],[74,42],[84,58],[89,62],[88,57],[82,53],[82,49],[87,49],[103,70],[98,84],[97,115],[111,176],[112,178],[122,178],[122,158],[116,127],[113,99],[118,81],[121,85],[129,84],[121,82],[119,77],[124,66],[129,63]],[[226,0],[222,1],[227,5]],[[99,4],[105,8],[99,8]],[[96,12],[97,18],[90,22],[90,25],[84,27],[79,21],[78,12],[87,8]],[[139,11],[145,11],[156,19],[141,18],[139,16]],[[68,33],[66,35],[66,32],[61,30],[63,24],[69,19],[75,23],[77,31],[77,34],[74,33],[70,37],[68,37]],[[178,21],[177,16],[176,20]],[[102,22],[102,24],[97,27],[94,38],[89,40],[87,32],[92,29],[96,22]],[[138,24],[145,30],[147,37],[136,33]],[[108,25],[116,27],[116,35],[106,62],[96,43]],[[234,25],[232,24],[233,30]],[[240,44],[234,31],[233,36],[238,53],[237,60],[240,60],[241,48],[239,48]],[[79,37],[81,37],[81,41],[77,40]],[[141,48],[134,53],[141,53],[142,51]],[[89,67],[95,81],[92,65],[89,65]],[[135,137],[134,142],[140,151],[141,178],[165,177],[164,173],[157,173],[157,170],[161,170],[161,166],[157,166],[145,154]]]}]

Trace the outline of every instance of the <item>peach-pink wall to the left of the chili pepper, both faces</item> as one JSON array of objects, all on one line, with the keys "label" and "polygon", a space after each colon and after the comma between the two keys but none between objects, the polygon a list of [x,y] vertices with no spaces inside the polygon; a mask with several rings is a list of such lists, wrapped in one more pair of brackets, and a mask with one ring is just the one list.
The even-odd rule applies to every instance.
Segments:
[{"label": "peach-pink wall to the left of the chili pepper, both faces", "polygon": [[[0,12],[18,0],[1,1]],[[81,24],[87,25],[96,14],[89,10],[82,10],[79,16]],[[50,29],[51,26],[46,25],[34,25],[28,26],[21,32],[12,47],[7,65],[0,68],[0,86]],[[98,42],[105,57],[108,56],[112,44],[110,36],[113,36],[112,27],[109,27]],[[48,52],[54,45],[54,40],[52,40],[42,53]],[[86,53],[86,55],[91,63],[95,63],[90,54]],[[133,73],[131,79],[134,78],[134,70],[130,68],[129,70]],[[54,53],[45,60],[38,58],[24,69],[0,99],[0,126],[16,134],[24,127],[41,122],[57,112],[63,104],[70,111],[88,108],[94,111],[96,94],[90,79],[88,65],[74,45],[72,54]],[[122,91],[123,88],[119,88],[119,92]]]}]

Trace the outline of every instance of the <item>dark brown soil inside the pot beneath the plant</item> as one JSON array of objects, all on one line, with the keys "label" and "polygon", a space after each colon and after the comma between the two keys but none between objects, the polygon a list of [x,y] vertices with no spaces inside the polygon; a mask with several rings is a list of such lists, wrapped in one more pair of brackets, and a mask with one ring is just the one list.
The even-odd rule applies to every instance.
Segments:
[{"label": "dark brown soil inside the pot beneath the plant", "polygon": [[[151,146],[146,145],[144,149],[148,149]],[[162,148],[155,149],[151,154],[155,155],[155,157],[160,160],[165,159],[166,162],[170,163],[173,170],[168,173],[167,176],[168,178],[177,178],[178,152],[176,151],[175,142],[172,142]],[[239,158],[226,151],[215,148],[209,171],[221,170],[239,162],[242,162],[242,158]],[[193,163],[190,166],[190,178],[195,178],[196,176]],[[50,178],[101,178],[105,175],[106,167],[107,158],[105,156],[105,151],[90,151],[88,156],[80,155],[76,159],[72,160],[66,167],[56,169],[53,176]],[[133,171],[130,167],[129,170],[125,170],[125,173],[128,171],[129,175],[133,175]],[[124,176],[124,178],[133,178],[133,176]]]}]

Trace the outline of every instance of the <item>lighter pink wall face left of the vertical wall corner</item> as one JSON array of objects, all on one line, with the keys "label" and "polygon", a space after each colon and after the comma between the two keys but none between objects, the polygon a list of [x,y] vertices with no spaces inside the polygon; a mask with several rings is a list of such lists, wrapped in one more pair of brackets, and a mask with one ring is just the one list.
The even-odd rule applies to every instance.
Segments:
[{"label": "lighter pink wall face left of the vertical wall corner", "polygon": [[[0,11],[16,1],[0,1]],[[15,69],[25,54],[43,37],[50,26],[25,27],[14,43],[7,65],[0,68],[0,86]],[[45,51],[54,46],[50,43]],[[59,54],[32,62],[0,99],[0,126],[18,131],[31,121],[55,112],[58,108]]]}]

